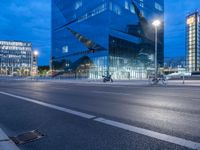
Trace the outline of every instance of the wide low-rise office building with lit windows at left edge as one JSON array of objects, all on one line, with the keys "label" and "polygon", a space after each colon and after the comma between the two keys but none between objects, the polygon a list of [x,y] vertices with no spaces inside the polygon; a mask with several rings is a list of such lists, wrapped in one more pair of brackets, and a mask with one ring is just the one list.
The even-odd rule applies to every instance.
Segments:
[{"label": "wide low-rise office building with lit windows at left edge", "polygon": [[0,41],[0,75],[30,75],[31,66],[31,43]]}]

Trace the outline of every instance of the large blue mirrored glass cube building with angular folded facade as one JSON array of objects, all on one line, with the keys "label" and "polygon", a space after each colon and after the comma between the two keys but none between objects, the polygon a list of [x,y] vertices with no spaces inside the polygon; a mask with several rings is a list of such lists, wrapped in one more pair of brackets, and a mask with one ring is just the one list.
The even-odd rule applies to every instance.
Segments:
[{"label": "large blue mirrored glass cube building with angular folded facade", "polygon": [[[163,14],[163,0],[53,0],[52,68],[76,78],[146,78],[155,61],[152,22]],[[162,23],[159,66],[163,37]]]}]

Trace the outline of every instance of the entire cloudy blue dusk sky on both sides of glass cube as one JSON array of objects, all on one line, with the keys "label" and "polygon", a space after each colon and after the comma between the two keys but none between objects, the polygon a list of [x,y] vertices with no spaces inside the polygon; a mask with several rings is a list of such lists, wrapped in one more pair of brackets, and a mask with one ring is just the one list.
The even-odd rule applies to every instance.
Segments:
[{"label": "entire cloudy blue dusk sky on both sides of glass cube", "polygon": [[[51,0],[1,0],[0,40],[33,43],[39,64],[49,63]],[[200,0],[165,0],[165,57],[185,55],[185,18],[200,10]]]}]

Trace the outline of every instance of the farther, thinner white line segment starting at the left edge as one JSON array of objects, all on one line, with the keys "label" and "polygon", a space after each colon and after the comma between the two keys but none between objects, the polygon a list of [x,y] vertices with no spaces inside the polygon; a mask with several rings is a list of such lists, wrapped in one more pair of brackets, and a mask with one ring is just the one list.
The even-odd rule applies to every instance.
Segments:
[{"label": "farther, thinner white line segment starting at the left edge", "polygon": [[83,118],[87,118],[87,119],[92,119],[92,118],[96,117],[96,116],[89,115],[89,114],[86,114],[86,113],[82,113],[82,112],[79,112],[79,111],[59,107],[59,106],[48,104],[48,103],[45,103],[45,102],[40,102],[38,100],[34,100],[34,99],[31,99],[31,98],[26,98],[26,97],[17,96],[17,95],[14,95],[14,94],[9,94],[9,93],[6,93],[6,92],[0,92],[0,94],[7,95],[7,96],[10,96],[10,97],[14,97],[14,98],[17,98],[17,99],[21,99],[21,100],[24,100],[24,101],[32,102],[32,103],[35,103],[35,104],[38,104],[38,105],[42,105],[42,106],[45,106],[45,107],[49,107],[49,108],[52,108],[52,109],[55,109],[55,110],[59,110],[59,111],[62,111],[62,112],[66,112],[66,113],[73,114],[73,115],[83,117]]}]

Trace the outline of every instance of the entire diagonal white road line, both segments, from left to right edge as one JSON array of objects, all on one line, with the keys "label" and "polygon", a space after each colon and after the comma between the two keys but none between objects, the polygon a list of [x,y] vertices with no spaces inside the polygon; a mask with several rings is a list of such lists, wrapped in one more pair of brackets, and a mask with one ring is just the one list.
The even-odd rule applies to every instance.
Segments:
[{"label": "entire diagonal white road line, both segments, from left to right edge", "polygon": [[9,94],[9,93],[6,93],[6,92],[0,92],[0,94],[7,95],[7,96],[10,96],[10,97],[14,97],[14,98],[21,99],[21,100],[25,100],[25,101],[28,101],[28,102],[32,102],[32,103],[35,103],[35,104],[38,104],[38,105],[42,105],[42,106],[49,107],[49,108],[59,110],[59,111],[62,111],[62,112],[70,113],[70,114],[80,116],[80,117],[83,117],[83,118],[93,119],[94,121],[99,122],[99,123],[103,123],[103,124],[110,125],[110,126],[113,126],[113,127],[121,128],[121,129],[124,129],[124,130],[127,130],[127,131],[131,131],[131,132],[138,133],[138,134],[141,134],[141,135],[145,135],[145,136],[148,136],[148,137],[151,137],[151,138],[155,138],[155,139],[158,139],[158,140],[161,140],[161,141],[169,142],[169,143],[172,143],[172,144],[184,146],[184,147],[191,148],[191,149],[200,150],[200,143],[193,142],[193,141],[190,141],[190,140],[185,140],[185,139],[178,138],[178,137],[175,137],[175,136],[170,136],[170,135],[162,134],[162,133],[159,133],[159,132],[155,132],[155,131],[131,126],[131,125],[128,125],[128,124],[125,124],[125,123],[117,122],[117,121],[112,121],[112,120],[108,120],[108,119],[104,119],[104,118],[97,118],[96,116],[93,116],[93,115],[74,111],[74,110],[71,110],[71,109],[62,108],[62,107],[59,107],[59,106],[56,106],[56,105],[40,102],[40,101],[33,100],[33,99],[30,99],[30,98]]}]

